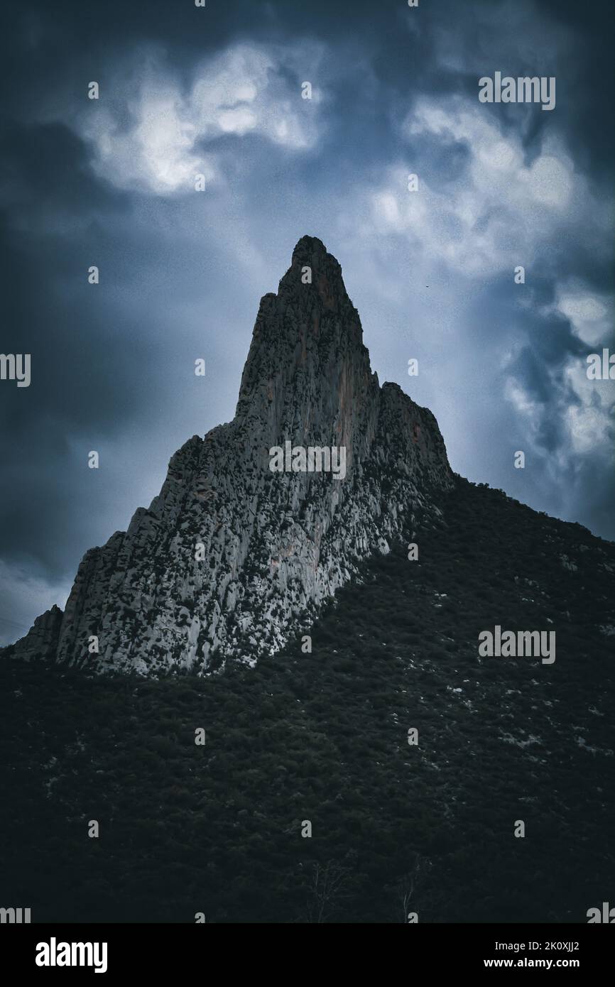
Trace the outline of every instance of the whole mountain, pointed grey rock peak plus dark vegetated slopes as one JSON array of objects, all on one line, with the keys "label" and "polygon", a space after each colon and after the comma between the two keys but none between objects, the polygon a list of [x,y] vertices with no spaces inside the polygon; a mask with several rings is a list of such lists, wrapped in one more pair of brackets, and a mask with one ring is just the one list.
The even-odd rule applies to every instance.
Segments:
[{"label": "whole mountain, pointed grey rock peak plus dark vegetated slopes", "polygon": [[[346,475],[272,472],[286,441],[344,446]],[[506,632],[549,653],[481,653]],[[453,474],[303,238],[234,420],[4,650],[4,900],[33,922],[584,923],[615,882],[614,644],[615,545]]]}]

